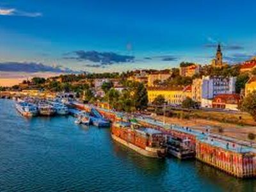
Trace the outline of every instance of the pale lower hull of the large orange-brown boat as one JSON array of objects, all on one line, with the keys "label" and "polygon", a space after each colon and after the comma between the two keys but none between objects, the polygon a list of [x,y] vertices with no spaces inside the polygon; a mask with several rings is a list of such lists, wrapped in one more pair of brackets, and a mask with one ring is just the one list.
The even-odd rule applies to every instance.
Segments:
[{"label": "pale lower hull of the large orange-brown boat", "polygon": [[129,143],[128,141],[122,140],[121,138],[118,138],[115,136],[115,134],[111,134],[113,140],[118,141],[118,143],[121,143],[122,145],[125,145],[126,147],[131,148],[132,150],[138,152],[139,154],[146,156],[146,157],[152,157],[152,158],[163,158],[165,157],[165,150],[164,149],[153,149],[147,147],[148,150],[140,148],[136,145],[133,145],[132,143]]}]

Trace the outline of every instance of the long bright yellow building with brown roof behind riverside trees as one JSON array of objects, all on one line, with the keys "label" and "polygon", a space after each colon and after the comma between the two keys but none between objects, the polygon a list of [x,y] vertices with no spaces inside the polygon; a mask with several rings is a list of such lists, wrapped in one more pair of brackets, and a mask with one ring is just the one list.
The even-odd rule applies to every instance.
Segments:
[{"label": "long bright yellow building with brown roof behind riverside trees", "polygon": [[186,97],[191,98],[191,86],[148,88],[148,102],[152,103],[159,95],[163,95],[168,104],[181,104]]}]

